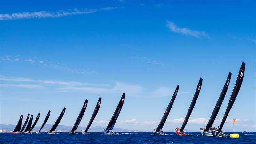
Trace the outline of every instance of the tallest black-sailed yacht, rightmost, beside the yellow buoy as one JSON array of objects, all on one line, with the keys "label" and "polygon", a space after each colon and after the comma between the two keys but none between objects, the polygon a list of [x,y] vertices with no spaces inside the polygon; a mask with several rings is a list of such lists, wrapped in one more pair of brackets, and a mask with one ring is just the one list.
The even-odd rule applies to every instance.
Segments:
[{"label": "tallest black-sailed yacht, rightmost, beside the yellow buoy", "polygon": [[242,62],[242,65],[240,67],[240,70],[239,70],[239,73],[237,75],[237,78],[236,78],[236,83],[234,85],[234,88],[233,88],[233,91],[231,93],[231,96],[230,96],[230,99],[229,99],[229,102],[228,102],[228,106],[227,106],[227,109],[225,111],[225,114],[222,118],[222,121],[221,121],[221,124],[220,124],[220,127],[218,128],[218,130],[212,130],[212,135],[213,136],[216,136],[216,137],[225,137],[227,136],[226,134],[224,134],[224,132],[222,131],[222,128],[223,128],[223,125],[228,117],[228,114],[236,100],[236,96],[238,95],[238,92],[241,88],[241,85],[242,85],[242,82],[243,82],[243,79],[244,79],[244,70],[245,70],[245,63],[244,61]]}]

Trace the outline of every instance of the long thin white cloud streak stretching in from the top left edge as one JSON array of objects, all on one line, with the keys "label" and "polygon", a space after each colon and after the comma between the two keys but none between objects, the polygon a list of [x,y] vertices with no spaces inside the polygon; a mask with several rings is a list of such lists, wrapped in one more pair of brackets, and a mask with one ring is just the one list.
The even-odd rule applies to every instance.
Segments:
[{"label": "long thin white cloud streak stretching in from the top left edge", "polygon": [[104,7],[100,9],[67,9],[67,10],[60,10],[55,12],[47,12],[47,11],[40,11],[40,12],[19,12],[19,13],[5,13],[0,14],[0,20],[16,20],[16,19],[32,19],[32,18],[58,18],[64,16],[71,16],[71,15],[82,15],[82,14],[89,14],[95,13],[99,11],[109,11],[117,8],[123,7]]}]

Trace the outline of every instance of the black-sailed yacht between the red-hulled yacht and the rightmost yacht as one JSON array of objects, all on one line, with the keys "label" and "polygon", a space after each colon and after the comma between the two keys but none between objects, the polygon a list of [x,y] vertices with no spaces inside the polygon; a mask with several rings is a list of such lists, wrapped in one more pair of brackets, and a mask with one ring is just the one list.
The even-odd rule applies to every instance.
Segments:
[{"label": "black-sailed yacht between the red-hulled yacht and the rightmost yacht", "polygon": [[231,75],[232,75],[231,72],[229,72],[227,80],[226,80],[226,82],[223,86],[223,89],[222,89],[221,93],[220,93],[220,97],[219,97],[219,99],[218,99],[218,101],[215,105],[215,108],[212,111],[212,115],[211,115],[206,127],[201,129],[202,136],[212,136],[210,128],[212,127],[212,124],[213,124],[213,122],[214,122],[214,120],[215,120],[215,118],[216,118],[216,116],[217,116],[217,114],[220,110],[221,104],[222,104],[222,102],[225,98],[225,95],[227,93],[229,82],[230,82],[230,79],[231,79]]}]

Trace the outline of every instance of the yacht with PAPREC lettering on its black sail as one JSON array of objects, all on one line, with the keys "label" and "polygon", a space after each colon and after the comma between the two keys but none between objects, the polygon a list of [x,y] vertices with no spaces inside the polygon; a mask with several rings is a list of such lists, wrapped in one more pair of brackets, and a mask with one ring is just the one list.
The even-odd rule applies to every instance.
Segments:
[{"label": "yacht with PAPREC lettering on its black sail", "polygon": [[[113,135],[114,133],[112,132],[113,128],[114,128],[114,125],[116,124],[116,120],[120,114],[120,111],[123,107],[123,104],[124,104],[124,99],[125,99],[125,93],[123,93],[117,107],[116,107],[116,110],[113,114],[113,116],[111,117],[109,123],[108,123],[108,126],[107,128],[104,130],[104,132],[102,134],[106,134],[106,135]],[[120,133],[120,132],[118,132]]]}]

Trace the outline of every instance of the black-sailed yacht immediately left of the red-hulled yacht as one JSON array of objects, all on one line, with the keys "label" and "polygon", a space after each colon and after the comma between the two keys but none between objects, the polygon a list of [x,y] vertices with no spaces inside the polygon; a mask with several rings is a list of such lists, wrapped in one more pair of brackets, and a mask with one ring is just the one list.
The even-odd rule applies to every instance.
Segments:
[{"label": "black-sailed yacht immediately left of the red-hulled yacht", "polygon": [[163,130],[162,130],[162,129],[163,129],[164,123],[165,123],[165,121],[166,121],[166,119],[167,119],[167,117],[168,117],[168,115],[169,115],[169,113],[170,113],[170,111],[171,111],[171,108],[172,108],[172,105],[173,105],[173,103],[174,103],[174,100],[175,100],[175,98],[176,98],[176,96],[177,96],[178,90],[179,90],[179,85],[177,85],[177,87],[176,87],[176,89],[175,89],[175,92],[174,92],[173,95],[172,95],[172,99],[171,99],[171,101],[169,102],[169,105],[168,105],[168,107],[166,108],[166,110],[165,110],[165,112],[164,112],[164,116],[162,117],[162,119],[161,119],[161,121],[160,121],[158,127],[157,127],[156,129],[153,129],[153,130],[154,130],[154,135],[165,135],[165,134],[163,133]]}]

